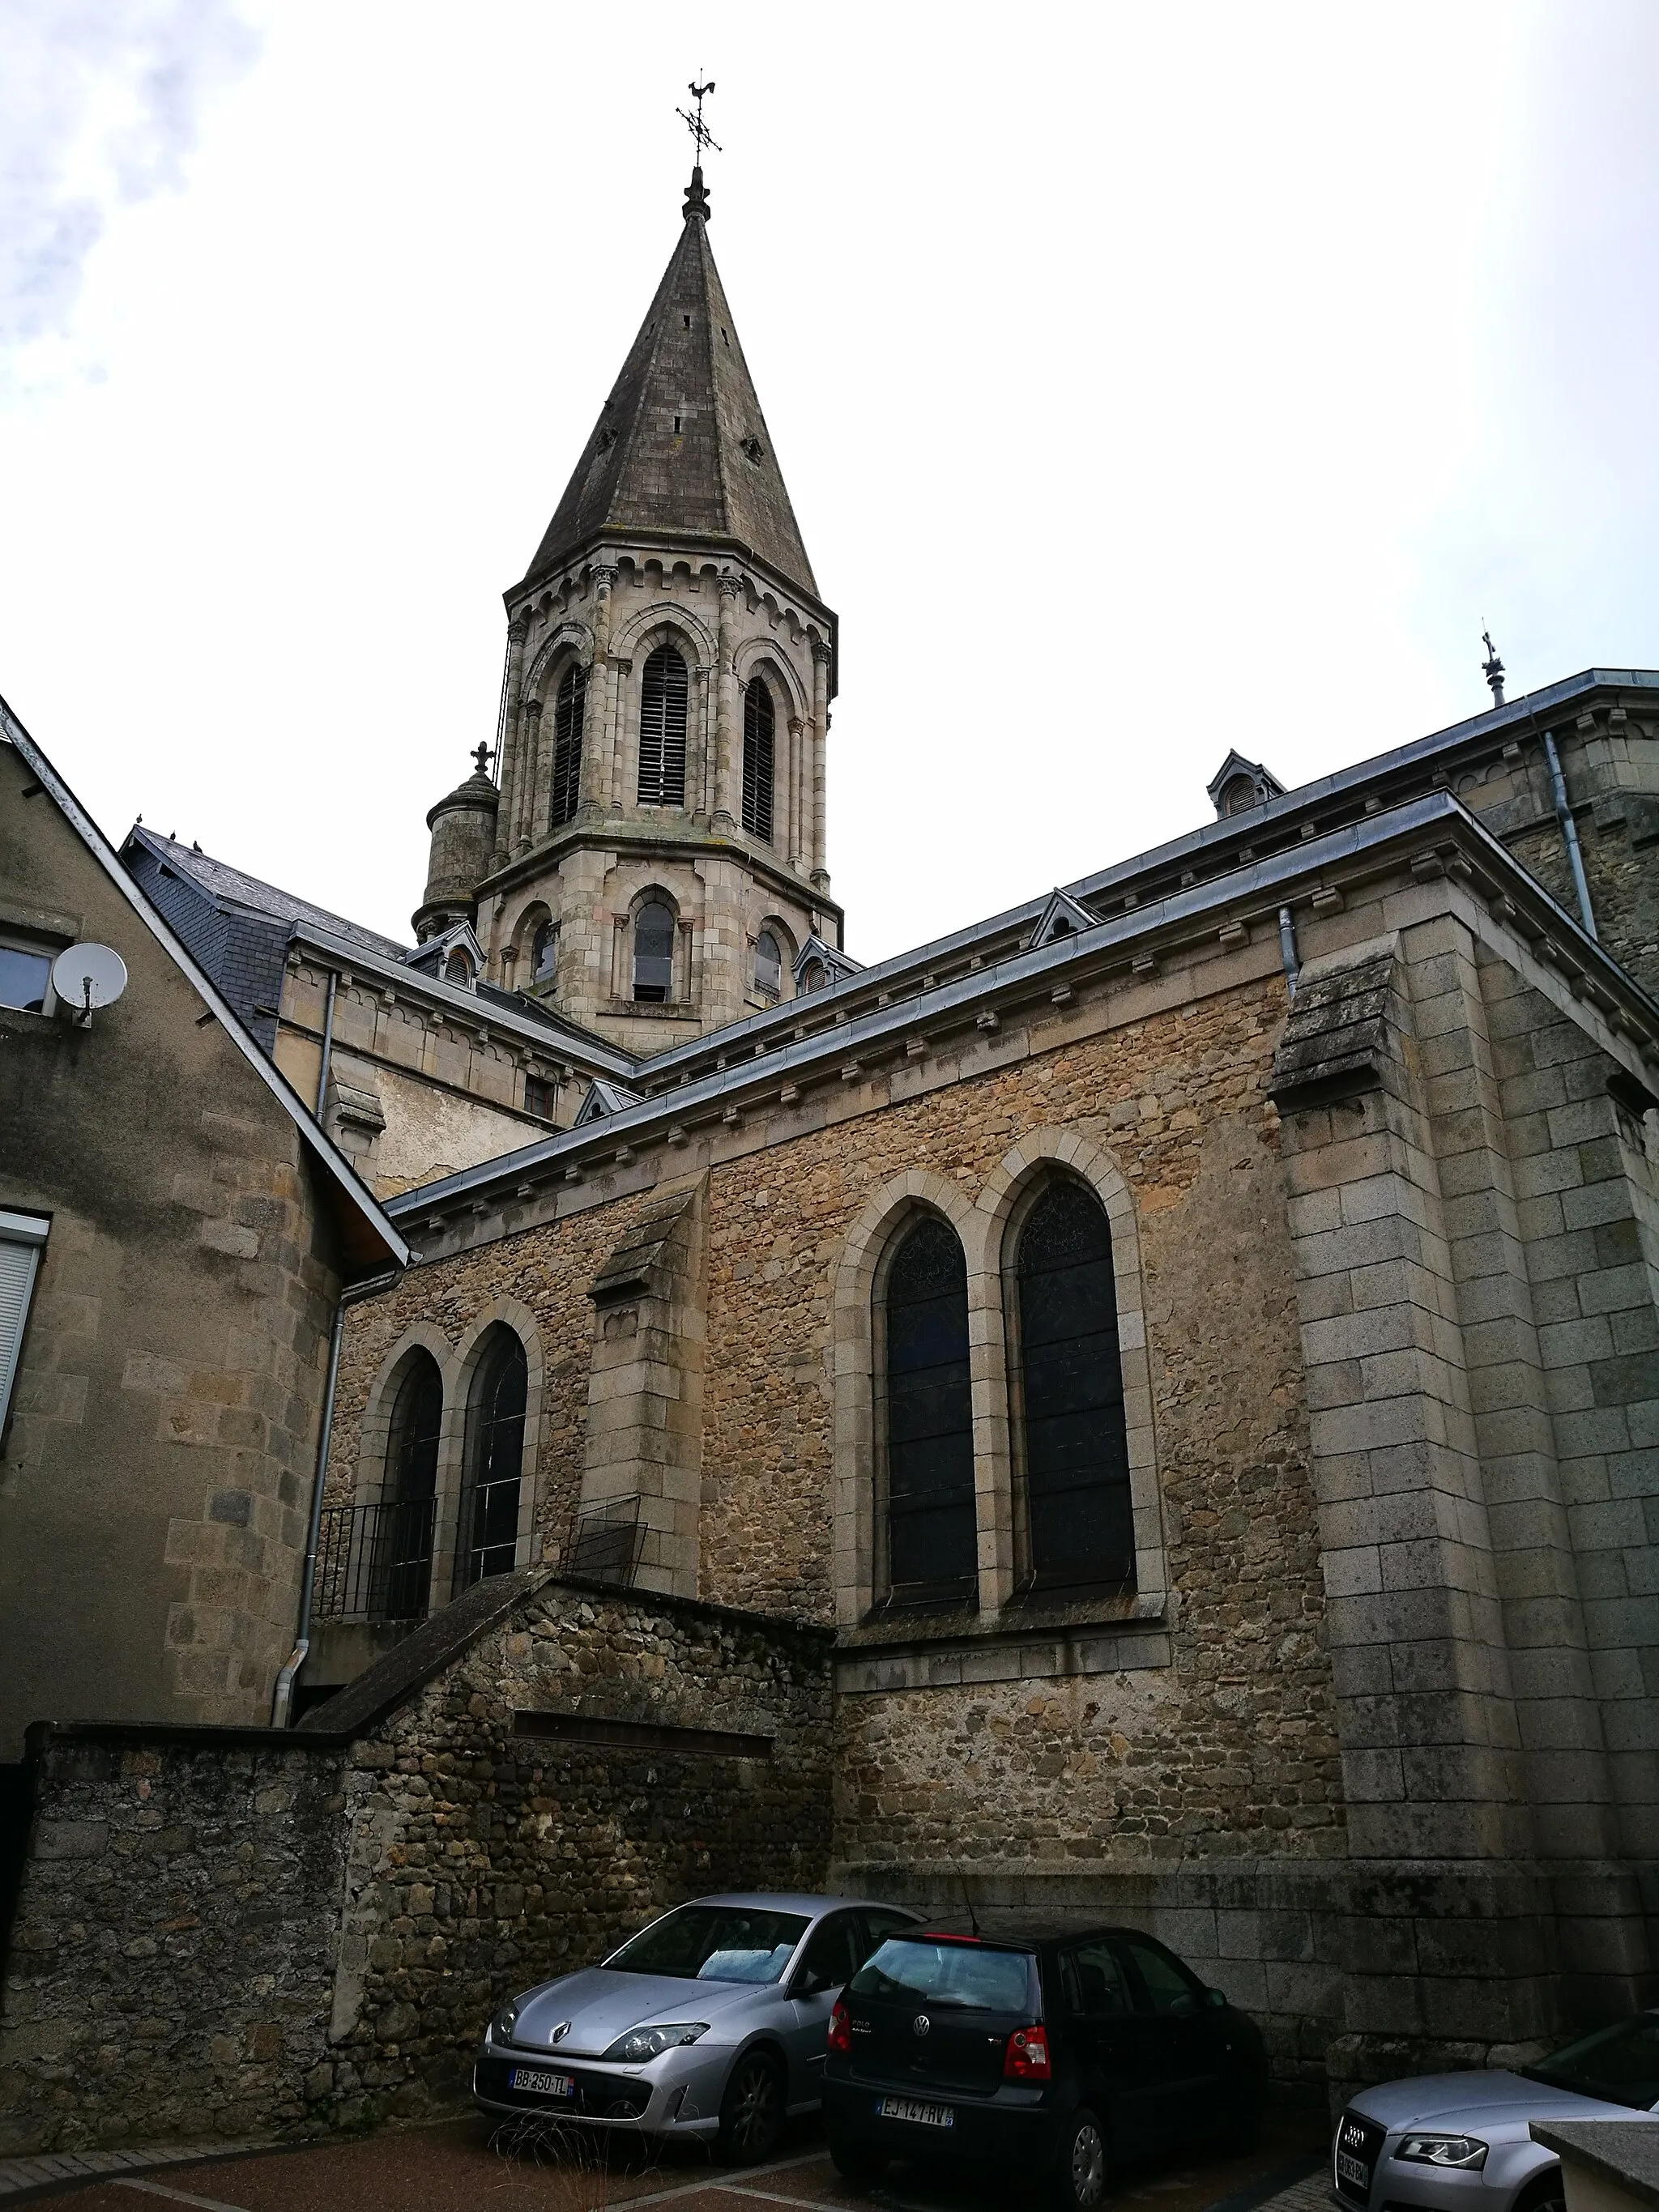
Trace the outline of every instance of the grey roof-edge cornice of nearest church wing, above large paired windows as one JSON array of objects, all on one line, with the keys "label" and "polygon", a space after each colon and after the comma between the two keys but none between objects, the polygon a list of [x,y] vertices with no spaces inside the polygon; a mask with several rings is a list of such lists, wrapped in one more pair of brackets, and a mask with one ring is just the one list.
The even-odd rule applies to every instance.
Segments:
[{"label": "grey roof-edge cornice of nearest church wing, above large paired windows", "polygon": [[[604,1121],[542,1139],[524,1150],[482,1161],[460,1175],[403,1192],[389,1201],[400,1221],[425,1214],[456,1225],[473,1217],[478,1234],[515,1192],[557,1181],[580,1183],[591,1172],[630,1166],[641,1152],[664,1148],[672,1175],[692,1128],[741,1126],[743,1117],[790,1104],[814,1084],[838,1084],[874,1073],[883,1062],[927,1057],[951,1037],[998,1031],[1002,1022],[1051,1015],[1088,987],[1113,978],[1133,982],[1159,964],[1217,958],[1248,942],[1252,925],[1276,942],[1279,909],[1312,909],[1314,900],[1340,907],[1343,896],[1378,878],[1407,887],[1447,878],[1469,889],[1486,911],[1531,947],[1535,962],[1562,978],[1597,1009],[1608,1033],[1639,1064],[1659,1066],[1659,1006],[1626,971],[1515,863],[1504,845],[1449,792],[1407,801],[1383,814],[1305,838],[1281,854],[1170,898],[1113,916],[1033,951],[987,964],[978,973],[931,991],[876,1006],[852,1020],[830,1020],[805,1037],[772,1051],[728,1060],[726,1068],[681,1082]],[[1318,909],[1316,909],[1318,911]],[[1239,927],[1243,925],[1243,927]],[[823,1018],[825,1000],[796,1000],[792,1013]],[[730,1044],[732,1033],[723,1033]],[[650,1073],[646,1066],[646,1075]],[[473,1241],[471,1234],[467,1241]]]}]

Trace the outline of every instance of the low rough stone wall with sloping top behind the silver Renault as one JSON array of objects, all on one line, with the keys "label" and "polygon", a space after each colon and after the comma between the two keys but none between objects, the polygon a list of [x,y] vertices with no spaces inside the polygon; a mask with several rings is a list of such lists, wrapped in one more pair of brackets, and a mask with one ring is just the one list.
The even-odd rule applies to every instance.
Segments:
[{"label": "low rough stone wall with sloping top behind the silver Renault", "polygon": [[[774,1750],[515,1736],[522,1710]],[[0,2008],[0,2152],[453,2099],[507,1995],[686,1896],[818,1887],[827,1763],[827,1637],[562,1584],[354,1741],[55,1734]]]}]

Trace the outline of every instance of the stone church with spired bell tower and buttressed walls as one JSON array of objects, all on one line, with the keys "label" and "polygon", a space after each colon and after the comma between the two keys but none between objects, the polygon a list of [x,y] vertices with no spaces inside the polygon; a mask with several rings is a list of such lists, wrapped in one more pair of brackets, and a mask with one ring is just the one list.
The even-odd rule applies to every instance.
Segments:
[{"label": "stone church with spired bell tower and buttressed walls", "polygon": [[[343,1307],[294,1741],[465,1674],[491,1588],[538,1743],[816,1639],[818,1882],[1152,1929],[1332,2093],[1652,2002],[1659,672],[1493,655],[1453,728],[1230,754],[1188,834],[860,967],[836,617],[708,228],[695,170],[416,945],[126,849],[204,967],[274,918],[243,1020],[414,1254]],[[473,1878],[513,1986],[568,1863]],[[434,1896],[352,1966],[387,2081],[440,2068]]]}]

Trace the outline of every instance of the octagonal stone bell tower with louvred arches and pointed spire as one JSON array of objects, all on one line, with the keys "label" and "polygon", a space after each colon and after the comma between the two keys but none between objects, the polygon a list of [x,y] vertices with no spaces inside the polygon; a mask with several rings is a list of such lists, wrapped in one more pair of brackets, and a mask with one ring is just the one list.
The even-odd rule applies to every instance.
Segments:
[{"label": "octagonal stone bell tower with louvred arches and pointed spire", "polygon": [[500,799],[473,885],[491,978],[637,1053],[794,995],[807,940],[841,945],[836,617],[714,268],[701,168],[507,617]]}]

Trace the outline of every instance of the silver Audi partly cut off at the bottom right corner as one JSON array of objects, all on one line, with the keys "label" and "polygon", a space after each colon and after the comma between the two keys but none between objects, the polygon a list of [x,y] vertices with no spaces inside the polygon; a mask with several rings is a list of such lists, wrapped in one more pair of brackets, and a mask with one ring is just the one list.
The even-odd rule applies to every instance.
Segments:
[{"label": "silver Audi partly cut off at the bottom right corner", "polygon": [[1336,2121],[1347,2212],[1564,2212],[1535,2119],[1659,2119],[1659,2011],[1597,2028],[1522,2073],[1420,2075],[1360,2090]]}]

